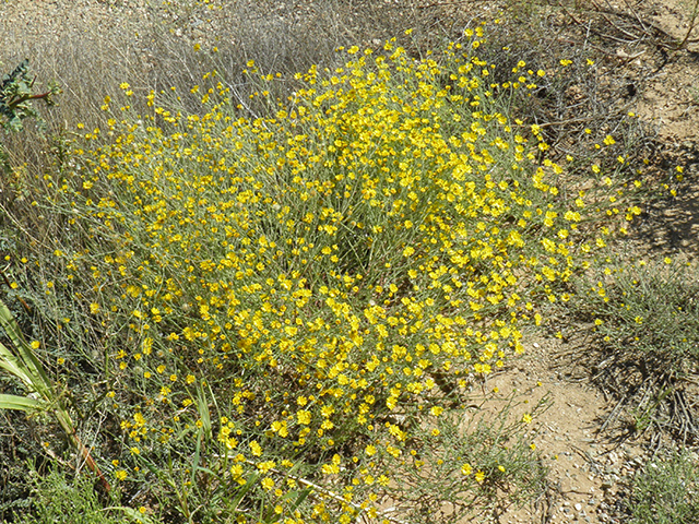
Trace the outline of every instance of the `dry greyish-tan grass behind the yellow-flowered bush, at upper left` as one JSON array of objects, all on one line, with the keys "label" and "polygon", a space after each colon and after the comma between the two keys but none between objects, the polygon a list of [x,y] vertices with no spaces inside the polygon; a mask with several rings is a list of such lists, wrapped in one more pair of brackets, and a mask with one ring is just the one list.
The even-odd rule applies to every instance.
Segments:
[{"label": "dry greyish-tan grass behind the yellow-flowered bush, at upper left", "polygon": [[[59,2],[32,10],[24,2],[3,5],[0,69],[29,58],[37,88],[55,80],[63,90],[59,105],[45,114],[46,136],[32,129],[21,138],[1,136],[12,163],[46,167],[50,139],[75,131],[78,122],[87,129],[104,124],[104,97],[116,96],[122,82],[143,96],[173,87],[186,94],[204,73],[217,70],[234,94],[246,98],[251,86],[241,71],[250,60],[266,72],[307,71],[312,64],[333,69],[340,64],[337,47],[377,47],[407,27],[416,27],[416,41],[427,47],[426,36],[440,26],[434,10],[410,1],[228,0],[213,5],[193,0]],[[291,91],[279,85],[280,96]]]}]

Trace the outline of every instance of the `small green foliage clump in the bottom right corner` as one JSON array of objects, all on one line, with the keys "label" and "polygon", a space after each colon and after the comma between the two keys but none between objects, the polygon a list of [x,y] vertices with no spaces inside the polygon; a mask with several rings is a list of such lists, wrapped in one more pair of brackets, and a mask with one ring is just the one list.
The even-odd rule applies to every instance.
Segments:
[{"label": "small green foliage clump in the bottom right corner", "polygon": [[699,522],[699,464],[696,453],[671,452],[649,462],[633,480],[632,524]]}]

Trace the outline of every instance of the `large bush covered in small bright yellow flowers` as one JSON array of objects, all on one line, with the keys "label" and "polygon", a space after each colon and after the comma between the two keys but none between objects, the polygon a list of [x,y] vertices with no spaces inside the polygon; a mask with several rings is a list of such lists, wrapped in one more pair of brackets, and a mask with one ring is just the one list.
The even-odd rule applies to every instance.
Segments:
[{"label": "large bush covered in small bright yellow flowers", "polygon": [[460,428],[537,303],[567,300],[638,209],[600,168],[559,187],[541,128],[509,115],[547,73],[494,83],[467,36],[422,59],[346,49],[288,100],[253,63],[245,104],[212,73],[199,115],[151,93],[134,117],[125,83],[45,177],[42,300],[81,353],[62,372],[106,384],[125,489],[190,522],[284,523],[428,522],[454,493],[472,514],[541,489],[531,415]]}]

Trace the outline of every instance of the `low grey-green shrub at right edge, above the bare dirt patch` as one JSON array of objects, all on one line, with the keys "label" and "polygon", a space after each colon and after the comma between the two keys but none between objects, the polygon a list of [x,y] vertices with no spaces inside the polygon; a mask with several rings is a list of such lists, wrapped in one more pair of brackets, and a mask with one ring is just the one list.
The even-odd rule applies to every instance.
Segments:
[{"label": "low grey-green shrub at right edge, above the bare dirt patch", "polygon": [[564,314],[592,330],[582,358],[597,383],[625,402],[633,431],[654,427],[683,442],[696,436],[685,379],[699,365],[697,276],[696,264],[680,259],[607,259],[577,279]]}]

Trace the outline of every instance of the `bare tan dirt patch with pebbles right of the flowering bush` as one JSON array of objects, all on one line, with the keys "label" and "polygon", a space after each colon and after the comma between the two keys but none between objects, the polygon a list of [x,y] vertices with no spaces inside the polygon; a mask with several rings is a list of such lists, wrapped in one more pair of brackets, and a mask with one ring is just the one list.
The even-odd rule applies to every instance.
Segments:
[{"label": "bare tan dirt patch with pebbles right of the flowering bush", "polygon": [[[548,409],[533,422],[533,442],[549,468],[549,490],[532,508],[505,513],[501,523],[609,523],[628,478],[645,462],[642,442],[619,438],[616,402],[576,369],[578,349],[558,340],[531,343],[526,353],[488,380]],[[522,406],[524,409],[525,406]],[[609,421],[614,424],[609,425]]]}]

